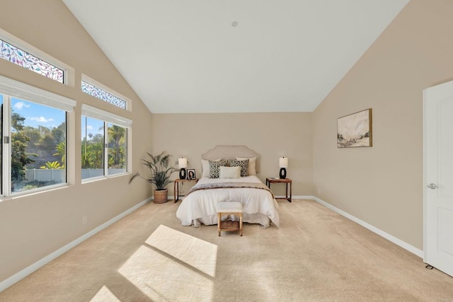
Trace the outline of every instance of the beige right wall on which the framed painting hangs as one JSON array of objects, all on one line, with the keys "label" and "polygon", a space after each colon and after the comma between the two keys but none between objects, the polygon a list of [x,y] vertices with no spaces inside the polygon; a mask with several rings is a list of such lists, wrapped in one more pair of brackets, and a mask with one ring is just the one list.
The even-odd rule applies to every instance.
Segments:
[{"label": "beige right wall on which the framed painting hangs", "polygon": [[[423,250],[423,89],[453,76],[453,1],[413,0],[314,112],[314,194]],[[372,148],[336,120],[373,109]]]}]

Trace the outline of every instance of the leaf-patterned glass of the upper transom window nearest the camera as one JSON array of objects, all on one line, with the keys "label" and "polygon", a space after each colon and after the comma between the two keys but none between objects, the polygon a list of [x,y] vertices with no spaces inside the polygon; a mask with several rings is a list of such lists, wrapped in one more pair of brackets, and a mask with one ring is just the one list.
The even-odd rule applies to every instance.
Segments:
[{"label": "leaf-patterned glass of the upper transom window nearest the camera", "polygon": [[22,66],[25,69],[35,71],[49,79],[63,83],[64,70],[55,65],[45,62],[44,60],[35,57],[33,54],[22,50],[4,40],[0,40],[0,58]]}]

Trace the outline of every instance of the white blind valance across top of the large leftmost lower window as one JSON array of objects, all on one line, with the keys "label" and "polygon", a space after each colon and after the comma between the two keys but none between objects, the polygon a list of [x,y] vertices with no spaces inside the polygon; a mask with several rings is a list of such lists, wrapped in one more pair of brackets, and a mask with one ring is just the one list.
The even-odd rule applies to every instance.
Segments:
[{"label": "white blind valance across top of the large leftmost lower window", "polygon": [[28,84],[0,76],[0,93],[5,93],[16,98],[32,101],[42,105],[74,112],[76,101],[56,93],[42,90]]}]

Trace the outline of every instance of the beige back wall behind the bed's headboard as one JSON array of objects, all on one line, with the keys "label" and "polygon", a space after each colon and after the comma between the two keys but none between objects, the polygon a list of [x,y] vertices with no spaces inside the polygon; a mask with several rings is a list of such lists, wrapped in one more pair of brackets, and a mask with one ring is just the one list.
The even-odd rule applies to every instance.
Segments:
[{"label": "beige back wall behind the bed's headboard", "polygon": [[[278,176],[278,158],[287,156],[292,194],[313,194],[311,113],[154,114],[151,130],[153,152],[188,158],[188,168],[195,168],[197,177],[202,153],[217,145],[245,145],[260,154],[258,177],[263,182]],[[273,191],[282,195],[283,187],[273,185]]]}]

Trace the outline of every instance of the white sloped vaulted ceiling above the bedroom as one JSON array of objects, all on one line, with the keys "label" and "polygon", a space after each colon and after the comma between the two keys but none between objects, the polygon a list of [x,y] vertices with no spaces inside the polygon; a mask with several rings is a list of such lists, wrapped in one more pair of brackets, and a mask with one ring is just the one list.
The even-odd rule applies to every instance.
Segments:
[{"label": "white sloped vaulted ceiling above the bedroom", "polygon": [[154,113],[311,112],[408,3],[63,1]]}]

